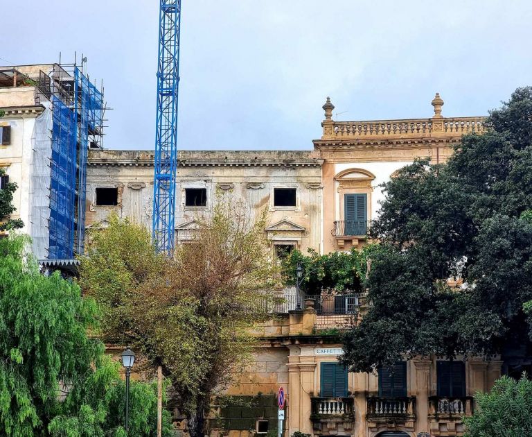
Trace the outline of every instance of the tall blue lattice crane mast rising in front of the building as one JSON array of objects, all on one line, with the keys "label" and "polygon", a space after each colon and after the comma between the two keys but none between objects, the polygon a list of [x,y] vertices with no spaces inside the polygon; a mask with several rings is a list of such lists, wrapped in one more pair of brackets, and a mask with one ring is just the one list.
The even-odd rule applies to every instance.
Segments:
[{"label": "tall blue lattice crane mast rising in front of the building", "polygon": [[174,250],[180,27],[181,0],[161,0],[152,230],[157,251],[169,255]]}]

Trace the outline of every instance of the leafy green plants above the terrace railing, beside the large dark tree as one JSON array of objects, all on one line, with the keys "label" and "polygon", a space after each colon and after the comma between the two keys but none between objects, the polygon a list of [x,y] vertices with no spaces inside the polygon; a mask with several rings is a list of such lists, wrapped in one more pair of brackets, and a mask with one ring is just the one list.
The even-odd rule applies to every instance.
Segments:
[{"label": "leafy green plants above the terrace railing, beside the large dark tree", "polygon": [[283,282],[295,284],[296,268],[301,265],[301,290],[307,294],[360,292],[364,288],[366,261],[378,250],[378,245],[366,246],[362,251],[353,248],[350,252],[331,252],[328,255],[319,255],[312,249],[309,249],[309,255],[303,255],[294,250],[281,263]]}]

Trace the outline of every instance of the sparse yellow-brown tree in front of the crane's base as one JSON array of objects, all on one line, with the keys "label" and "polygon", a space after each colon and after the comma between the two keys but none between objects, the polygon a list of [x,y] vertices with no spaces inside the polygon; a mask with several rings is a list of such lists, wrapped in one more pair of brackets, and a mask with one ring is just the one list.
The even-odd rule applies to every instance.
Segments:
[{"label": "sparse yellow-brown tree in front of the crane's base", "polygon": [[249,361],[251,328],[269,316],[275,270],[265,214],[248,217],[243,203],[218,196],[171,259],[155,253],[146,230],[114,217],[82,259],[80,284],[105,307],[103,329],[161,366],[193,437],[204,435],[211,396]]}]

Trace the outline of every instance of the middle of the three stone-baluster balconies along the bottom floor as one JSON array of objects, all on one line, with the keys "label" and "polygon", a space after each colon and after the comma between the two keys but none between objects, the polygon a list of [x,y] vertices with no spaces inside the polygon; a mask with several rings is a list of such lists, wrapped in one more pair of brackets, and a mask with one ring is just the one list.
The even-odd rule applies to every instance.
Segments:
[{"label": "middle of the three stone-baluster balconies along the bottom floor", "polygon": [[366,397],[370,422],[409,422],[416,420],[416,397]]}]

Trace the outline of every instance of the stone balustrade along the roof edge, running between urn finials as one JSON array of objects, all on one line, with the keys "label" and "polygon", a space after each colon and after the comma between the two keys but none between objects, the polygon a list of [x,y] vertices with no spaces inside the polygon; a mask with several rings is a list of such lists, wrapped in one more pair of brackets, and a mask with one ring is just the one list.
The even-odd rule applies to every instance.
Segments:
[{"label": "stone balustrade along the roof edge, running between urn finials", "polygon": [[[398,137],[432,134],[463,135],[484,131],[484,117],[443,119],[335,121],[333,137]],[[329,134],[330,135],[330,134]]]}]

